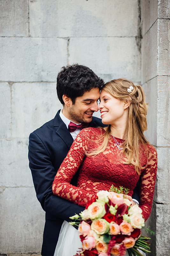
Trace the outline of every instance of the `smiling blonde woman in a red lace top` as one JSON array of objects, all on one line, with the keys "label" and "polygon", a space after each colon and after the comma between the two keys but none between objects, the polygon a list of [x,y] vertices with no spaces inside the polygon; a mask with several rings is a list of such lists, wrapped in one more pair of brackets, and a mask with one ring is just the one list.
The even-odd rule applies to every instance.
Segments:
[{"label": "smiling blonde woman in a red lace top", "polygon": [[[98,190],[109,190],[112,184],[128,188],[131,196],[139,179],[139,206],[147,220],[152,208],[157,153],[143,134],[147,129],[145,93],[129,80],[112,80],[103,86],[98,108],[102,123],[108,127],[86,128],[78,134],[56,174],[53,193],[85,206]],[[69,182],[78,169],[74,187]],[[64,225],[60,233],[65,237],[71,231],[66,231],[69,225]],[[56,251],[58,254],[54,255],[64,255]]]}]

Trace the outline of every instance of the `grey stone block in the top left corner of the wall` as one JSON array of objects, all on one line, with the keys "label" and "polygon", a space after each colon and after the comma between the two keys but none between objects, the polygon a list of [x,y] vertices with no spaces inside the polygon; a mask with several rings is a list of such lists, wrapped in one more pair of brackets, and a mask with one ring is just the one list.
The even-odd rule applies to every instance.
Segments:
[{"label": "grey stone block in the top left corner of the wall", "polygon": [[0,1],[0,36],[28,36],[28,1],[29,0]]}]

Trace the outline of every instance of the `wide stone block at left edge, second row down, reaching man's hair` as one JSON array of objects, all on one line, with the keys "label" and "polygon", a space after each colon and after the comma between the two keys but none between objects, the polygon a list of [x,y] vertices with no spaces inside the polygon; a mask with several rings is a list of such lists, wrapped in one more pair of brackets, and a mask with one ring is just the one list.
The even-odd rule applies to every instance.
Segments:
[{"label": "wide stone block at left edge, second row down, reaching man's hair", "polygon": [[55,82],[67,65],[67,40],[1,37],[0,81]]}]

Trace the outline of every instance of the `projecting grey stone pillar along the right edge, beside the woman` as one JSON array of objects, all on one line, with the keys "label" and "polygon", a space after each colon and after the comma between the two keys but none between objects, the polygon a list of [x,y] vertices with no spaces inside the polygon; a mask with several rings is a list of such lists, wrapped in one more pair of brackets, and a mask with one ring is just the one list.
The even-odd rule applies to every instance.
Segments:
[{"label": "projecting grey stone pillar along the right edge, beside the woman", "polygon": [[146,136],[157,148],[158,172],[152,214],[151,255],[170,254],[170,1],[141,0],[141,83],[148,109]]}]

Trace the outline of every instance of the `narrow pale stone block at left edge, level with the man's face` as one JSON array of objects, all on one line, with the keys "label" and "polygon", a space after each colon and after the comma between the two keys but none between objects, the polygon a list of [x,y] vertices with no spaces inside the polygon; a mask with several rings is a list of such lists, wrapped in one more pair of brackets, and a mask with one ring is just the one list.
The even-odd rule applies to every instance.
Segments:
[{"label": "narrow pale stone block at left edge, level with the man's face", "polygon": [[11,137],[11,88],[8,83],[0,83],[0,95],[0,138],[8,138]]}]

